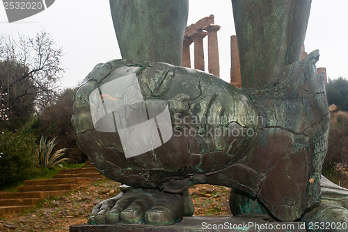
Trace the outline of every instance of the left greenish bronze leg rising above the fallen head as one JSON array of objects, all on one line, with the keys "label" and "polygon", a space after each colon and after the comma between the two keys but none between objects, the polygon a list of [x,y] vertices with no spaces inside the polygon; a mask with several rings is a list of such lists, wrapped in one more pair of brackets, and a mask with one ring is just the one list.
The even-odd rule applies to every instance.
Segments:
[{"label": "left greenish bronze leg rising above the fallen head", "polygon": [[110,0],[110,9],[123,59],[182,64],[189,0]]}]

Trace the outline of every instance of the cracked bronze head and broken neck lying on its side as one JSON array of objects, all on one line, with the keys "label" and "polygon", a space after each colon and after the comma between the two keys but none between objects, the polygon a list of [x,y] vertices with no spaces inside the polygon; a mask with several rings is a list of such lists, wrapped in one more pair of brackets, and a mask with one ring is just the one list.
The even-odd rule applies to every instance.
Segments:
[{"label": "cracked bronze head and broken neck lying on its side", "polygon": [[[329,130],[324,79],[315,72],[318,56],[315,51],[288,65],[267,88],[247,90],[166,63],[112,60],[97,65],[74,100],[79,147],[104,176],[134,188],[175,193],[195,183],[226,185],[257,197],[278,219],[297,219],[319,200]],[[132,73],[144,99],[168,103],[173,137],[125,158],[118,133],[93,128],[88,96],[115,74]],[[225,133],[217,136],[211,132],[216,129]],[[252,129],[253,135],[233,136],[228,133],[232,129]]]}]

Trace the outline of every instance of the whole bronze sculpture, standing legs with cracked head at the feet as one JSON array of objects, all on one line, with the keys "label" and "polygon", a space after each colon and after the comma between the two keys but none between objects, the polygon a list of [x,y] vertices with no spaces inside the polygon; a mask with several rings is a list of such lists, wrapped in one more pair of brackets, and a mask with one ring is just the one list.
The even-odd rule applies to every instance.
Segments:
[{"label": "whole bronze sculpture, standing legs with cracked head at the feet", "polygon": [[330,121],[324,78],[315,71],[318,51],[299,62],[310,3],[232,1],[239,90],[178,67],[187,0],[111,0],[125,60],[88,74],[75,95],[72,122],[91,163],[131,187],[95,206],[88,223],[180,222],[193,214],[187,189],[196,183],[232,187],[239,192],[231,199],[246,199],[231,204],[236,212],[258,199],[283,221],[318,204]]}]

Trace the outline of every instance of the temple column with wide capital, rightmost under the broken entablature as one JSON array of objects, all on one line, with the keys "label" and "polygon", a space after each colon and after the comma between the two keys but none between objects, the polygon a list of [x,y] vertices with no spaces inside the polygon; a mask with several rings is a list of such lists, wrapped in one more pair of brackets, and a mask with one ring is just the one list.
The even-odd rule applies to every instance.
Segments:
[{"label": "temple column with wide capital, rightmost under the broken entablature", "polygon": [[209,25],[205,28],[208,32],[208,69],[209,73],[220,77],[219,65],[219,46],[217,40],[217,31],[220,30],[219,25]]}]

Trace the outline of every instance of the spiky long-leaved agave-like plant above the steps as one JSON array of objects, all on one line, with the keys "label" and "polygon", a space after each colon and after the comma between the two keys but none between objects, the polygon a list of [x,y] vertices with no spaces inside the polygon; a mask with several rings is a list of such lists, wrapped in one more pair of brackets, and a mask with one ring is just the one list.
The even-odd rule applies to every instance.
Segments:
[{"label": "spiky long-leaved agave-like plant above the steps", "polygon": [[52,168],[52,167],[63,167],[61,163],[65,160],[69,160],[68,158],[61,158],[61,156],[65,155],[65,151],[68,150],[66,148],[59,149],[52,153],[54,147],[56,147],[56,144],[54,141],[56,138],[53,140],[47,141],[47,137],[44,139],[43,135],[40,140],[39,148],[36,150],[36,158],[38,160],[38,164],[45,168]]}]

